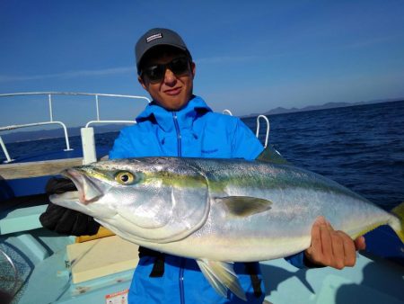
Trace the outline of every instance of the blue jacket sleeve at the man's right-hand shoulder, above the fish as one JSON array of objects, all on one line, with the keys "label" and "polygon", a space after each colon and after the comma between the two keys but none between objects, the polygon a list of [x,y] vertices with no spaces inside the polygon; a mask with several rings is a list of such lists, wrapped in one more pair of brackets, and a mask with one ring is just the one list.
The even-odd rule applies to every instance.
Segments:
[{"label": "blue jacket sleeve at the man's right-hand shoulder, above the fish", "polygon": [[237,119],[232,140],[233,158],[253,160],[263,149],[259,139],[240,119]]}]

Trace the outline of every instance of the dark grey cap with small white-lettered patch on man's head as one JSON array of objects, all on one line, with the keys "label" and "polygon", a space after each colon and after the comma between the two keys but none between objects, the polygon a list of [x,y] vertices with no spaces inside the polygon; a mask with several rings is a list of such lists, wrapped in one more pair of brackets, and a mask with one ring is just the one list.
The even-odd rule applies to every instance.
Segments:
[{"label": "dark grey cap with small white-lettered patch on man's head", "polygon": [[139,64],[142,58],[145,56],[145,53],[149,49],[159,45],[170,45],[171,47],[181,49],[187,53],[189,58],[191,58],[184,40],[180,38],[178,33],[169,29],[155,28],[146,31],[145,34],[136,42],[135,55],[137,72],[139,72]]}]

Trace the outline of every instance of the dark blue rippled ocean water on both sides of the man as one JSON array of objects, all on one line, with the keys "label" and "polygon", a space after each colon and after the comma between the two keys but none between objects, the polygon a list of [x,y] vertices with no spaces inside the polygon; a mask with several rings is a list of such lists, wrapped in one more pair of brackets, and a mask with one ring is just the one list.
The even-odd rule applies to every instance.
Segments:
[{"label": "dark blue rippled ocean water on both sides of the man", "polygon": [[[404,101],[268,116],[269,144],[294,165],[325,175],[390,210],[404,201]],[[256,119],[243,121],[256,131]],[[112,147],[117,132],[96,134]],[[261,123],[259,139],[265,139]],[[79,137],[70,140],[81,148]],[[64,139],[7,144],[14,158],[65,148]],[[4,155],[0,152],[0,162]]]}]

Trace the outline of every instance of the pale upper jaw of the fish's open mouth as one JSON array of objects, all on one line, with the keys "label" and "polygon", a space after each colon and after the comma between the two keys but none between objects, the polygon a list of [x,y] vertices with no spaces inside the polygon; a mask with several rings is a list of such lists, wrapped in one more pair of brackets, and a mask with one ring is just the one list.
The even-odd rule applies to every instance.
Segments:
[{"label": "pale upper jaw of the fish's open mouth", "polygon": [[103,196],[101,189],[92,182],[83,170],[70,168],[62,172],[62,175],[75,183],[75,187],[77,188],[75,196],[84,205],[98,201]]}]

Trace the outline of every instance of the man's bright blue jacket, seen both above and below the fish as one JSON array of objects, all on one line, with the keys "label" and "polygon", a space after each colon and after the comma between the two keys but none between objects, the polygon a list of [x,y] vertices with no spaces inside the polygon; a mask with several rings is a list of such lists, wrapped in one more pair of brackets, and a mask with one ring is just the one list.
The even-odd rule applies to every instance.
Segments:
[{"label": "man's bright blue jacket, seen both above and below the fish", "polygon": [[[255,159],[263,150],[259,140],[240,119],[212,112],[194,96],[179,112],[168,112],[150,103],[136,118],[136,124],[122,130],[110,151],[110,158],[138,156],[184,156]],[[245,303],[233,293],[218,295],[200,272],[195,260],[165,255],[162,277],[149,277],[154,256],[143,256],[136,267],[129,290],[129,303]],[[259,273],[259,264],[253,264]],[[245,264],[234,264],[249,303],[256,297]]]}]

